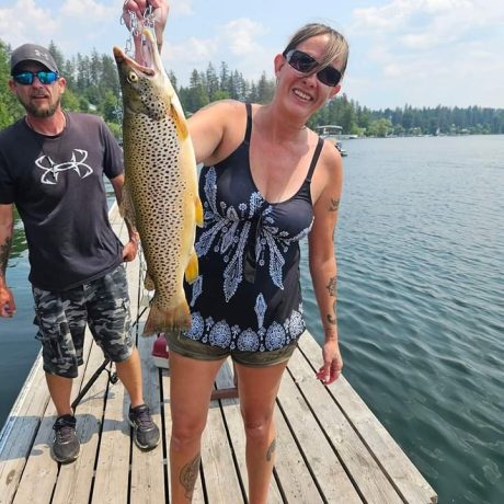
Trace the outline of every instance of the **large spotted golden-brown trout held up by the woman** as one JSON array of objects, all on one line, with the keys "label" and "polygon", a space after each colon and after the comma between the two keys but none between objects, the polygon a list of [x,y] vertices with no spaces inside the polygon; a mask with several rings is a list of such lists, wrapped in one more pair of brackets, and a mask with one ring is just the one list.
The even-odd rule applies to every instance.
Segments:
[{"label": "large spotted golden-brown trout held up by the woman", "polygon": [[142,31],[149,66],[114,47],[123,94],[125,183],[121,214],[139,236],[147,271],[144,285],[154,294],[144,335],[191,328],[184,277],[198,276],[194,249],[203,226],[197,167],[187,122],[164,71],[154,37]]}]

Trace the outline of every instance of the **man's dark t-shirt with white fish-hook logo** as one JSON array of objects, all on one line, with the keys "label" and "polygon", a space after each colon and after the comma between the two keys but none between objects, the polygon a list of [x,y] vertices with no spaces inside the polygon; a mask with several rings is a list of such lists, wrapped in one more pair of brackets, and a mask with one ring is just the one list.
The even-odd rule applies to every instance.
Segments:
[{"label": "man's dark t-shirt with white fish-hook logo", "polygon": [[53,291],[99,278],[123,260],[103,180],[123,173],[121,148],[100,117],[66,117],[56,137],[24,119],[0,133],[0,204],[14,203],[23,220],[31,283]]}]

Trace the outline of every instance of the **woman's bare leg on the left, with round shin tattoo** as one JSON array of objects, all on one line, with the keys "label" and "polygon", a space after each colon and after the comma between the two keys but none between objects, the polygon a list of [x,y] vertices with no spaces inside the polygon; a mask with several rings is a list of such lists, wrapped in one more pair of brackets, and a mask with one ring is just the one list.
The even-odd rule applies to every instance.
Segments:
[{"label": "woman's bare leg on the left, with round shin tattoo", "polygon": [[201,460],[211,390],[224,359],[198,360],[170,351],[171,502],[191,502]]}]

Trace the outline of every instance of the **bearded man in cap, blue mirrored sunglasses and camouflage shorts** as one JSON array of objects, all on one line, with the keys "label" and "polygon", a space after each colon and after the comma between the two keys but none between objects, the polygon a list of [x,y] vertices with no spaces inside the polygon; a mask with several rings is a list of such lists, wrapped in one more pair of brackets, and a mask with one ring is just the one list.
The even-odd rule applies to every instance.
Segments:
[{"label": "bearded man in cap, blue mirrored sunglasses and camouflage shorts", "polygon": [[26,115],[0,133],[0,316],[15,312],[5,283],[15,205],[28,245],[36,337],[58,413],[53,456],[59,462],[79,456],[70,393],[82,364],[87,324],[128,391],[135,443],[152,449],[160,436],[144,404],[122,264],[135,259],[137,234],[129,229],[123,248],[108,222],[103,185],[105,174],[119,201],[121,149],[99,117],[62,111],[66,81],[45,47],[18,47],[11,75],[9,87]]}]

